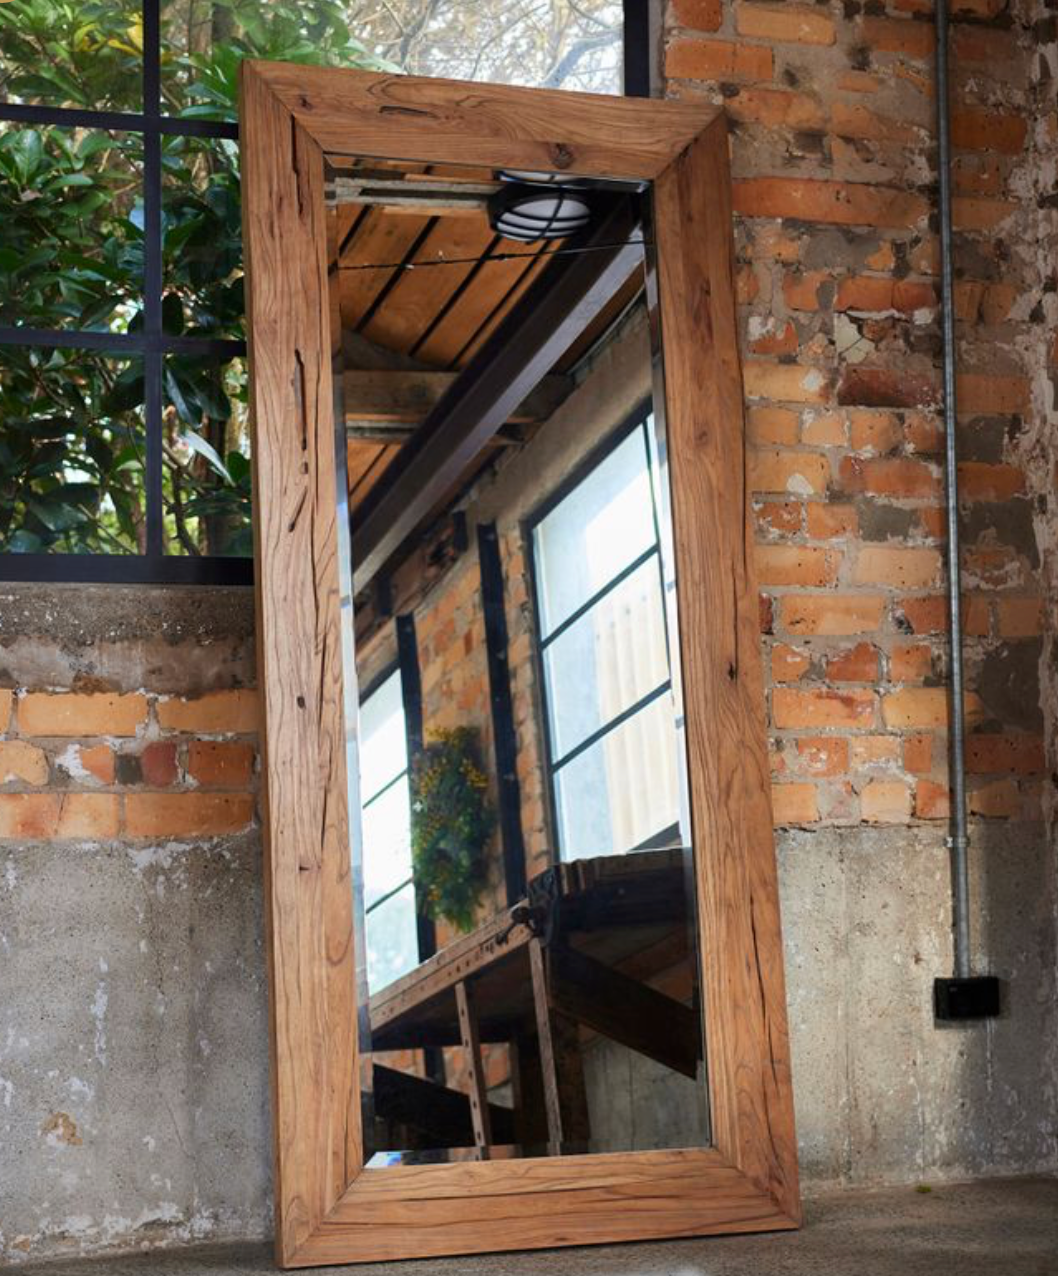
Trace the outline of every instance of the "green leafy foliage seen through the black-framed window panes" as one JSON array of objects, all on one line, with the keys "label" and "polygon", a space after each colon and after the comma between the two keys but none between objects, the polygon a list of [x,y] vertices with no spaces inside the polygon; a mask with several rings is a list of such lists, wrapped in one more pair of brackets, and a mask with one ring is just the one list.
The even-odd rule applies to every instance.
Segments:
[{"label": "green leafy foliage seen through the black-framed window panes", "polygon": [[[235,119],[245,56],[382,68],[333,0],[172,0],[163,92],[185,116]],[[191,51],[208,36],[208,51]],[[195,34],[198,33],[198,34]],[[9,98],[139,110],[142,19],[130,0],[0,3]],[[391,68],[392,69],[392,68]],[[63,128],[0,133],[0,323],[135,332],[143,324],[142,144]],[[162,323],[245,334],[235,143],[162,139]],[[251,553],[245,364],[168,356],[163,508],[180,554]],[[4,351],[0,551],[143,547],[144,382],[94,351]]]}]

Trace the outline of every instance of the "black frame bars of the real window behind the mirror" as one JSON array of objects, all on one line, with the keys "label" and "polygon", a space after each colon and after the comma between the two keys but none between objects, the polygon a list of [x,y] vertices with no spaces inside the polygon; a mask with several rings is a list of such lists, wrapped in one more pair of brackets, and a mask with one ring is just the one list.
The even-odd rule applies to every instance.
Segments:
[{"label": "black frame bars of the real window behind the mirror", "polygon": [[[622,0],[624,10],[624,93],[648,97],[652,79],[650,0]],[[162,320],[163,227],[162,138],[239,140],[236,124],[165,114],[162,97],[163,0],[143,0],[139,111],[38,106],[0,101],[0,121],[71,129],[117,129],[140,134],[143,143],[143,324],[133,333],[78,332],[57,328],[0,327],[5,346],[66,346],[103,351],[115,357],[142,357],[145,382],[145,546],[140,554],[17,554],[0,550],[0,581],[83,582],[119,584],[251,586],[251,558],[180,556],[166,553],[163,496],[163,364],[166,355],[190,355],[227,362],[245,359],[246,343],[220,337],[167,334]]]}]

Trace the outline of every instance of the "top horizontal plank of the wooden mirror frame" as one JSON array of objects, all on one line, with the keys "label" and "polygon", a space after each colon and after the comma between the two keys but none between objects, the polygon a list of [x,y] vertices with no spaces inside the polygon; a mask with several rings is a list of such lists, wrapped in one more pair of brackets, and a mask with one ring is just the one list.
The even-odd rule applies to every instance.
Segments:
[{"label": "top horizontal plank of the wooden mirror frame", "polygon": [[683,102],[249,64],[324,151],[652,179],[719,115]]}]

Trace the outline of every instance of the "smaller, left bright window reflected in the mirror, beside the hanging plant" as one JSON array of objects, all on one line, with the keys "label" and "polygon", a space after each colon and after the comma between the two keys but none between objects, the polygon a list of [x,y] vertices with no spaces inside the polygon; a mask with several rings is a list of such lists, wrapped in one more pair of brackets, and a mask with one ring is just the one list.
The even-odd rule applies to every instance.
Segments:
[{"label": "smaller, left bright window reflected in the mirror, beside the hanging plant", "polygon": [[375,991],[419,965],[408,746],[399,669],[360,703],[360,789],[368,986]]}]

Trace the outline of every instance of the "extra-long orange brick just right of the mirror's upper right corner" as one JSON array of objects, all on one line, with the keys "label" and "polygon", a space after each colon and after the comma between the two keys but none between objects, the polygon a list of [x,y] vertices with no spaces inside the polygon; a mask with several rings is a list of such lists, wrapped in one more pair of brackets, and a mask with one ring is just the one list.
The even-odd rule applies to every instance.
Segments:
[{"label": "extra-long orange brick just right of the mirror's upper right corner", "polygon": [[748,177],[734,184],[735,211],[745,217],[796,217],[836,226],[913,230],[929,216],[923,195],[849,181]]}]

